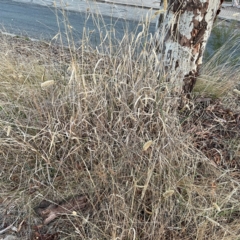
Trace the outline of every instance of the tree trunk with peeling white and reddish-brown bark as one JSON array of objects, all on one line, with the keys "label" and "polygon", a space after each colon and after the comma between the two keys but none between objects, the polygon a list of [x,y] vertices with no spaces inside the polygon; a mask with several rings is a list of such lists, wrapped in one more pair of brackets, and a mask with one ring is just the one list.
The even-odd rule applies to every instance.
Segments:
[{"label": "tree trunk with peeling white and reddish-brown bark", "polygon": [[[162,2],[160,8],[163,9]],[[164,2],[166,5],[166,0]],[[189,93],[193,89],[222,2],[167,0],[167,8],[158,18],[154,37],[156,67],[178,92]]]}]

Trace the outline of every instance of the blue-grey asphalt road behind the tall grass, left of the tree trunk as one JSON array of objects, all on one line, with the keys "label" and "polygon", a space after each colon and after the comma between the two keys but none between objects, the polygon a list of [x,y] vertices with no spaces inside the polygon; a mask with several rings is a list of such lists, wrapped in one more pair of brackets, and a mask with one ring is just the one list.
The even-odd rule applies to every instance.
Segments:
[{"label": "blue-grey asphalt road behind the tall grass, left of the tree trunk", "polygon": [[[108,5],[108,4],[107,4]],[[139,20],[125,20],[110,16],[100,16],[88,11],[65,11],[36,4],[26,4],[11,0],[0,0],[1,30],[16,35],[26,35],[29,38],[51,40],[61,36],[67,43],[66,26],[72,31],[75,43],[83,38],[85,30],[89,33],[92,45],[99,45],[100,38],[105,38],[110,32],[113,38],[121,40],[125,32],[139,33],[142,25]],[[155,24],[150,24],[149,31],[154,33]],[[101,36],[101,37],[100,37]],[[56,37],[55,39],[59,38]],[[106,41],[107,44],[107,41]]]}]

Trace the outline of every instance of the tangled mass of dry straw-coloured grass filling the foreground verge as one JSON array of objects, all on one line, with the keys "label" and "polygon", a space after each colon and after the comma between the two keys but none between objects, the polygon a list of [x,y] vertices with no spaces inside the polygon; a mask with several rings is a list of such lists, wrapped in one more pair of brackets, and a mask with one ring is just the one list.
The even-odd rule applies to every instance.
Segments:
[{"label": "tangled mass of dry straw-coloured grass filling the foreground verge", "polygon": [[[240,239],[239,163],[209,153],[228,146],[239,161],[239,70],[226,86],[233,69],[206,66],[208,95],[201,87],[183,100],[151,62],[132,58],[134,43],[116,57],[0,39],[0,231],[13,223],[18,239]],[[206,98],[223,76],[218,100]],[[219,101],[231,117],[213,117]],[[231,135],[217,138],[221,127]],[[224,146],[209,143],[213,129]],[[60,207],[41,225],[43,200],[79,195],[86,207]]]}]

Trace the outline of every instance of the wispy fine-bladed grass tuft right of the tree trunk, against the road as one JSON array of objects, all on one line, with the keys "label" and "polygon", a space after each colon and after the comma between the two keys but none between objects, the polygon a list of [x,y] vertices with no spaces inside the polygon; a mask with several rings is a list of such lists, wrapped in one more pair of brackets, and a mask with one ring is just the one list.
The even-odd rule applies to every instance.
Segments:
[{"label": "wispy fine-bladed grass tuft right of the tree trunk, against the road", "polygon": [[221,31],[227,31],[225,34],[228,35],[227,37],[224,35],[225,41],[223,36],[222,42],[219,40],[220,43],[216,43],[217,46],[214,46],[213,43],[212,48],[219,47],[219,49],[204,64],[194,92],[201,92],[201,94],[204,92],[213,98],[225,98],[227,95],[227,99],[232,100],[233,98],[229,94],[233,95],[233,89],[240,87],[240,34],[239,27],[236,28],[235,25],[232,26],[232,34],[229,29],[225,29],[226,26],[223,29],[219,27],[215,30],[217,31],[215,38],[221,36]]}]

